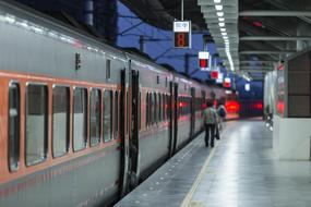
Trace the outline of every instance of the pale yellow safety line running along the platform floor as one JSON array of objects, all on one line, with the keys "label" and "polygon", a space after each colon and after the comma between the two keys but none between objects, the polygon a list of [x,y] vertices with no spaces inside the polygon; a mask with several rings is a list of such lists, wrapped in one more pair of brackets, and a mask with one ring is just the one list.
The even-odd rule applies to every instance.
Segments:
[{"label": "pale yellow safety line running along the platform floor", "polygon": [[192,184],[190,191],[188,192],[187,196],[182,200],[180,207],[188,207],[189,206],[189,204],[191,202],[191,198],[192,198],[194,192],[196,191],[196,188],[198,188],[198,186],[199,186],[199,184],[200,184],[200,182],[201,182],[201,180],[202,180],[202,178],[204,175],[204,172],[206,171],[206,168],[208,167],[210,161],[211,161],[211,159],[213,158],[213,156],[215,154],[215,149],[216,149],[217,146],[218,146],[218,142],[216,143],[215,147],[210,153],[210,155],[208,155],[206,161],[204,162],[204,165],[203,165],[199,175],[195,178],[194,183]]}]

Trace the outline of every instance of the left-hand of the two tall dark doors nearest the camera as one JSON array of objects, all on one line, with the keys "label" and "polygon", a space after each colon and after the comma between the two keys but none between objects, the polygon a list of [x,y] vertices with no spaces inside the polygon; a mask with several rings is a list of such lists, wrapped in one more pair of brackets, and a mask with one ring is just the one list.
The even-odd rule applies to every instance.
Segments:
[{"label": "left-hand of the two tall dark doors nearest the camera", "polygon": [[128,70],[121,71],[121,97],[120,97],[120,136],[121,136],[121,173],[120,173],[120,194],[123,197],[129,191],[129,133],[128,133]]}]

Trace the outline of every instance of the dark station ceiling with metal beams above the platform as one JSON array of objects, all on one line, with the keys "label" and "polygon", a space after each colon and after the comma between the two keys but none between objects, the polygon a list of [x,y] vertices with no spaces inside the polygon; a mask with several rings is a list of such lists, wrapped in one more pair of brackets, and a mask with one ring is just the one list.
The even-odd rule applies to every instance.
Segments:
[{"label": "dark station ceiling with metal beams above the platform", "polygon": [[[172,28],[180,20],[181,0],[121,0],[139,17],[156,27]],[[227,68],[262,78],[280,60],[311,46],[310,0],[183,0],[184,20],[193,31],[212,35]],[[220,3],[230,41],[229,61],[215,4]],[[231,65],[232,66],[232,65]]]}]

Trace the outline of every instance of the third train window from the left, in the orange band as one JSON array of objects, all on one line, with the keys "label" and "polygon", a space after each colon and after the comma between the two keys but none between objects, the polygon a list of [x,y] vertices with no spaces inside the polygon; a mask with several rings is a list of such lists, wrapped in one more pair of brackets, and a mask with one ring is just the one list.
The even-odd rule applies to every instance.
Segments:
[{"label": "third train window from the left, in the orange band", "polygon": [[69,87],[52,89],[52,156],[60,157],[69,149]]}]

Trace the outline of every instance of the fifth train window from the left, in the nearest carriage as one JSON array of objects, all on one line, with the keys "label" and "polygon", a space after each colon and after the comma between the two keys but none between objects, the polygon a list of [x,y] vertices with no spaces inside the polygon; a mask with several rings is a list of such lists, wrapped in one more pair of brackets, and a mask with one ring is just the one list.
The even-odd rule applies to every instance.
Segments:
[{"label": "fifth train window from the left, in the nearest carriage", "polygon": [[92,89],[89,94],[89,138],[91,146],[100,142],[100,90]]}]

